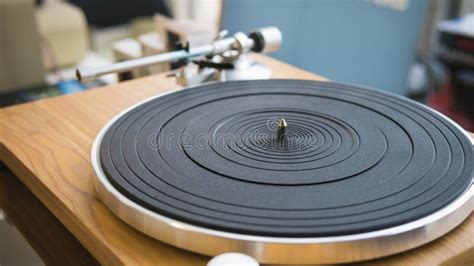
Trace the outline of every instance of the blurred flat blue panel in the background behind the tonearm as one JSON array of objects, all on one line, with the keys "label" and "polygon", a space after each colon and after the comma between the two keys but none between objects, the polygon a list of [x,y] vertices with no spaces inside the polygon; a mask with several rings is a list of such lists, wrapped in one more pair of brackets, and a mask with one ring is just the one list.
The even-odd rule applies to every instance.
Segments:
[{"label": "blurred flat blue panel in the background behind the tonearm", "polygon": [[403,94],[426,0],[404,11],[368,0],[225,0],[231,33],[275,25],[283,45],[275,58],[334,81]]}]

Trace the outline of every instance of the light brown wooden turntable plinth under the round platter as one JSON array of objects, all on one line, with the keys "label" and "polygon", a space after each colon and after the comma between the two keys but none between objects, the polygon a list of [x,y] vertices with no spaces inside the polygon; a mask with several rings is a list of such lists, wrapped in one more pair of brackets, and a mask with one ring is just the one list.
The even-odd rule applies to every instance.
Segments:
[{"label": "light brown wooden turntable plinth under the round platter", "polygon": [[[274,78],[323,79],[255,57],[272,67]],[[176,87],[173,78],[154,75],[0,110],[0,161],[13,172],[0,174],[0,203],[43,260],[166,265],[203,265],[209,260],[131,228],[101,203],[92,185],[90,152],[101,127],[124,108]],[[54,243],[58,239],[60,243]],[[373,263],[472,265],[474,215],[433,243]]]}]

